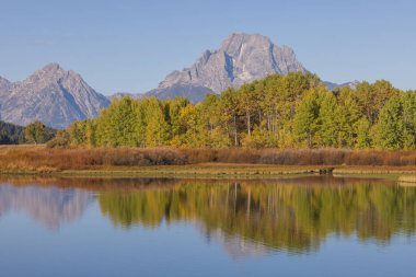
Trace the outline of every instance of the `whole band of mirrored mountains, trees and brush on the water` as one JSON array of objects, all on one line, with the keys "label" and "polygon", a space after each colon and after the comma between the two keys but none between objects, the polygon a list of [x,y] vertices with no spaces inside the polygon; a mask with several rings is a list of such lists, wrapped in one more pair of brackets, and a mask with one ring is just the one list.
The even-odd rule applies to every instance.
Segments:
[{"label": "whole band of mirrored mountains, trees and brush on the water", "polygon": [[[80,217],[97,194],[114,224],[157,228],[195,222],[210,240],[238,253],[308,252],[330,234],[386,243],[415,233],[416,188],[377,180],[302,177],[274,181],[137,178],[7,178],[0,216],[26,210],[56,228]],[[91,194],[91,192],[93,194]],[[226,245],[227,244],[227,245]],[[249,245],[249,246],[247,246]]]}]

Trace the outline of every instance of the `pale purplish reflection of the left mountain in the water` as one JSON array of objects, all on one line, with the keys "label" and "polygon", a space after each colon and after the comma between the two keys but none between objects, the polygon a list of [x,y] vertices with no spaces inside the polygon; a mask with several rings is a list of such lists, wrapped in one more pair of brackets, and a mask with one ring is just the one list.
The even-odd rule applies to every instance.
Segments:
[{"label": "pale purplish reflection of the left mountain in the water", "polygon": [[81,189],[0,185],[0,217],[22,210],[42,224],[57,229],[81,217],[94,196]]}]

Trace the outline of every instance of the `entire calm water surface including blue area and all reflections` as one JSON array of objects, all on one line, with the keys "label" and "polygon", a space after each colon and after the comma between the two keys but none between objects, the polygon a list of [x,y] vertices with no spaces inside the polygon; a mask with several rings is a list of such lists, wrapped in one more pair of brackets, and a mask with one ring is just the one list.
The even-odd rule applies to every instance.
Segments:
[{"label": "entire calm water surface including blue area and all reflections", "polygon": [[0,177],[0,276],[416,276],[416,188]]}]

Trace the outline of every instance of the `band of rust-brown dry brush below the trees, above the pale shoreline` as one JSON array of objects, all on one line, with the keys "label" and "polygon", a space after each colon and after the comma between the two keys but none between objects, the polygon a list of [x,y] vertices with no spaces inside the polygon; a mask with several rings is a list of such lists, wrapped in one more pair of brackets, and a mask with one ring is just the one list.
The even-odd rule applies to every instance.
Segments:
[{"label": "band of rust-brown dry brush below the trees, above the pale shoreline", "polygon": [[[344,149],[177,149],[177,148],[97,148],[47,149],[44,146],[0,147],[0,170],[51,172],[62,170],[97,170],[150,165],[207,164],[227,168],[239,163],[293,166],[383,166],[416,168],[416,151],[357,151]],[[245,164],[245,165],[244,165]],[[257,166],[258,168],[258,166]],[[381,169],[381,168],[380,168]],[[247,169],[245,169],[247,170]]]}]

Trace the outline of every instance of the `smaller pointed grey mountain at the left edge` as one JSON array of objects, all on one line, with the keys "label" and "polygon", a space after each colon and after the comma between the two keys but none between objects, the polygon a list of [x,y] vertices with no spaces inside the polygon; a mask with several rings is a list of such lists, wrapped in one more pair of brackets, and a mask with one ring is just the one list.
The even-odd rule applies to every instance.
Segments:
[{"label": "smaller pointed grey mountain at the left edge", "polygon": [[82,77],[49,64],[21,82],[0,80],[0,119],[18,125],[41,120],[66,128],[74,120],[95,117],[109,101]]}]

